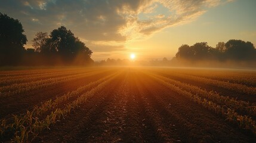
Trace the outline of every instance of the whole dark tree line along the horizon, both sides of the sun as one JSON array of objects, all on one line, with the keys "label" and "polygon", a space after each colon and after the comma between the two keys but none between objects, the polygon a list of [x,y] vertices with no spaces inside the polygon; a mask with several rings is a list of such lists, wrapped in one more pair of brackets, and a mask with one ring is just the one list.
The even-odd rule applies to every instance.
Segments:
[{"label": "whole dark tree line along the horizon, both sides of the sun", "polygon": [[[19,20],[0,13],[0,66],[38,66],[38,65],[88,65],[94,63],[92,51],[84,42],[66,27],[61,26],[48,34],[38,32],[33,38],[33,48],[24,48],[27,42],[24,29]],[[256,49],[251,42],[231,39],[218,42],[215,48],[207,42],[198,42],[192,46],[181,45],[175,57],[162,64],[175,61],[235,61],[256,63]],[[101,64],[128,63],[128,61],[113,61],[108,59]],[[153,62],[159,64],[159,61]]]}]

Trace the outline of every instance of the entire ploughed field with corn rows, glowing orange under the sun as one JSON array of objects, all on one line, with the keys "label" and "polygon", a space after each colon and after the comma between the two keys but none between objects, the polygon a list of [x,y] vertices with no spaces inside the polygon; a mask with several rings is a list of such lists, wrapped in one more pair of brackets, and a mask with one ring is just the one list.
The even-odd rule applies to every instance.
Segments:
[{"label": "entire ploughed field with corn rows, glowing orange under the sun", "polygon": [[255,142],[256,71],[0,71],[0,142]]}]

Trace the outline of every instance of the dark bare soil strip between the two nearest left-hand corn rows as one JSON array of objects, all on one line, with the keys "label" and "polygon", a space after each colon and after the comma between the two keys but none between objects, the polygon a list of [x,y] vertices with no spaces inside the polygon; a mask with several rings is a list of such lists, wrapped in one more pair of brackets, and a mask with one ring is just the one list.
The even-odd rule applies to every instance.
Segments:
[{"label": "dark bare soil strip between the two nearest left-hand corn rows", "polygon": [[83,77],[81,79],[71,80],[69,82],[60,83],[47,88],[38,89],[24,94],[14,95],[1,98],[0,100],[0,119],[8,118],[12,114],[25,113],[26,110],[31,110],[35,105],[41,104],[48,100],[54,100],[56,97],[63,96],[67,92],[76,90],[80,86],[87,85],[90,82],[101,79],[113,73],[113,70],[102,71],[101,73],[92,76]]}]

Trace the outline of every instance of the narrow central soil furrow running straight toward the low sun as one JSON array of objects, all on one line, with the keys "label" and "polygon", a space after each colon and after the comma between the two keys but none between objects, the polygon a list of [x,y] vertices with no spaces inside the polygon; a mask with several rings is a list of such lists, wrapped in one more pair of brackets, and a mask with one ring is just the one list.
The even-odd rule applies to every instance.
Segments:
[{"label": "narrow central soil furrow running straight toward the low sun", "polygon": [[127,142],[157,142],[153,126],[147,119],[143,103],[139,100],[138,88],[135,84],[134,73],[129,73],[127,114],[125,130],[122,136]]}]

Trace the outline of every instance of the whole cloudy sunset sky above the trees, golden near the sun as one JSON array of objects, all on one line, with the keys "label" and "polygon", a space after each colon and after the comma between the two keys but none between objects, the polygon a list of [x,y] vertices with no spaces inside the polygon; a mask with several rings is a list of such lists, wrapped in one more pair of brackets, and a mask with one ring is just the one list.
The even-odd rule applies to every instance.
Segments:
[{"label": "whole cloudy sunset sky above the trees, golden near the sun", "polygon": [[171,60],[183,44],[241,39],[256,44],[255,0],[0,0],[20,20],[32,48],[37,32],[65,26],[95,61]]}]

